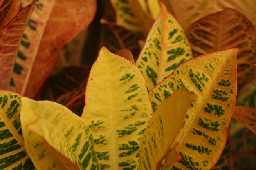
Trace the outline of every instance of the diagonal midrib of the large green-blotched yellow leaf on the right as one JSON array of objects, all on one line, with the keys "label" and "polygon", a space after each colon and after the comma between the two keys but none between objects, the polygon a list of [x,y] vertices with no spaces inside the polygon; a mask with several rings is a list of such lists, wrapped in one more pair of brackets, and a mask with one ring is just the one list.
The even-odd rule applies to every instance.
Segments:
[{"label": "diagonal midrib of the large green-blotched yellow leaf on the right", "polygon": [[[233,51],[233,53],[234,53],[234,51]],[[231,54],[229,55],[229,57],[232,56],[233,53],[231,53]],[[225,66],[225,64],[227,63],[229,57],[227,58],[227,60],[226,60],[225,63],[223,64],[223,66]],[[219,75],[220,75],[220,73],[221,73],[221,71],[222,71],[222,69],[223,69],[223,66],[222,66],[221,70],[219,71],[218,75],[216,76],[216,78],[214,79],[213,83],[211,84],[211,87],[209,88],[210,90],[211,90],[211,88],[213,87],[213,84],[215,84],[216,79],[219,77]],[[196,90],[196,89],[195,89],[195,90]],[[206,99],[207,96],[209,95],[210,90],[209,90],[209,91],[207,92],[207,94],[205,95],[204,99],[202,100],[202,103],[204,103],[205,99]],[[199,93],[199,95],[200,95],[200,93]],[[202,96],[202,95],[201,95],[201,96]],[[198,110],[201,108],[201,106],[202,106],[202,104],[198,107]],[[235,106],[234,106],[234,107],[235,107]],[[234,107],[233,107],[233,110],[234,110]],[[189,110],[190,110],[190,109],[189,109]],[[188,110],[188,111],[189,111],[189,110]],[[196,110],[195,115],[193,115],[193,118],[192,118],[191,122],[189,123],[189,126],[188,126],[188,127],[186,128],[186,130],[184,131],[184,135],[183,135],[182,138],[180,139],[180,143],[179,143],[179,146],[177,146],[177,148],[180,148],[180,145],[182,144],[181,141],[183,141],[183,138],[187,135],[187,133],[188,133],[188,131],[189,131],[189,130],[188,130],[189,127],[193,124],[194,119],[195,119],[196,115],[198,114],[198,110]],[[189,111],[189,112],[190,112],[190,111]],[[182,130],[182,129],[181,129],[181,130]],[[227,133],[227,131],[226,131],[226,133]],[[172,147],[173,147],[173,144],[172,144]]]}]

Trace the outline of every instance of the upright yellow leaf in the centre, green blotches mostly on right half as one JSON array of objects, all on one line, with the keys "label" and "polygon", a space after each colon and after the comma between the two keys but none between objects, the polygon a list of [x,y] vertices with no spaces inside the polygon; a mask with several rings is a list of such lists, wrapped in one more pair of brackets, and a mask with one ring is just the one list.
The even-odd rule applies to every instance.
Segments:
[{"label": "upright yellow leaf in the centre, green blotches mostly on right half", "polygon": [[103,47],[88,78],[81,116],[94,134],[101,170],[137,167],[139,142],[151,114],[139,69]]}]

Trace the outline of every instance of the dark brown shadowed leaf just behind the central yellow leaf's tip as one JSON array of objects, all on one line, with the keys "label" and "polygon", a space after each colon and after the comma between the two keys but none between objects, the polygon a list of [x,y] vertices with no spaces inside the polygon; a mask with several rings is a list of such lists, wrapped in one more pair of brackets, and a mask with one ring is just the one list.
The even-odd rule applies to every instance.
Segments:
[{"label": "dark brown shadowed leaf just behind the central yellow leaf's tip", "polygon": [[101,20],[101,24],[100,47],[106,46],[112,53],[121,49],[128,49],[132,52],[135,60],[139,57],[139,36],[112,22]]}]

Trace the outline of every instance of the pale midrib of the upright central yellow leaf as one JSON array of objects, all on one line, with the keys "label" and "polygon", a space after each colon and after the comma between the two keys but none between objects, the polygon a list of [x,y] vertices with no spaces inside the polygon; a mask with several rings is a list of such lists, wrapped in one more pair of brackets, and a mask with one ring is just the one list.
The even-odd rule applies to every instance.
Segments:
[{"label": "pale midrib of the upright central yellow leaf", "polygon": [[106,57],[106,52],[105,52],[105,49],[104,49],[104,56],[105,56],[105,60],[106,60],[106,63],[107,63],[107,69],[108,69],[108,77],[109,77],[109,89],[110,89],[110,112],[111,112],[111,146],[112,146],[112,155],[113,155],[113,166],[114,166],[114,168],[113,168],[113,170],[115,170],[116,169],[116,167],[115,167],[115,155],[114,155],[114,148],[115,148],[115,146],[114,146],[114,138],[113,138],[113,111],[112,111],[112,93],[111,93],[111,81],[110,81],[110,71],[109,71],[109,64],[108,64],[108,59],[107,59],[107,57]]}]

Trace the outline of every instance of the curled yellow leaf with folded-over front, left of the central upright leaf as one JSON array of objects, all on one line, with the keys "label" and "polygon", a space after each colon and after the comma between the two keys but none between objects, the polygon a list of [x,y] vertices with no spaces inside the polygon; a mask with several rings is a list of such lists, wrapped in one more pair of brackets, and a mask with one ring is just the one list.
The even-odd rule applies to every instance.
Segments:
[{"label": "curled yellow leaf with folded-over front, left of the central upright leaf", "polygon": [[21,100],[25,146],[37,169],[99,170],[93,135],[85,121],[55,102]]}]

